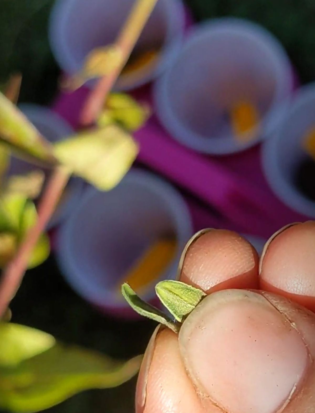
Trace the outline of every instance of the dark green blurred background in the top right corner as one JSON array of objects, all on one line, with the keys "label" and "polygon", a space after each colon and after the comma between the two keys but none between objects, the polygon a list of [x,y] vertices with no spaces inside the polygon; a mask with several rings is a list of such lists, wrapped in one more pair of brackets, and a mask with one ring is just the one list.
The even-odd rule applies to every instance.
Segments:
[{"label": "dark green blurred background in the top right corner", "polygon": [[268,28],[287,49],[303,83],[315,79],[315,0],[186,0],[197,20],[234,16]]}]

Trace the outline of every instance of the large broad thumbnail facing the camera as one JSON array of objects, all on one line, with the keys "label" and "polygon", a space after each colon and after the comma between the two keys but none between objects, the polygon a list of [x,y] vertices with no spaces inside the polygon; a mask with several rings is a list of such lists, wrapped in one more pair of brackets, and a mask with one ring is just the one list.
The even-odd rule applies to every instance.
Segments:
[{"label": "large broad thumbnail facing the camera", "polygon": [[206,297],[179,335],[201,396],[228,413],[276,413],[297,392],[308,350],[300,333],[261,294],[225,290]]}]

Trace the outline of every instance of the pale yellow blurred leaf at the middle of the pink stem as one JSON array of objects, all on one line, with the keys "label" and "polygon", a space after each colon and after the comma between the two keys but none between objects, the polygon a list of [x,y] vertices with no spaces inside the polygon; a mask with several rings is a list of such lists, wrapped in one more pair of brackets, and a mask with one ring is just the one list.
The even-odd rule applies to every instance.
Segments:
[{"label": "pale yellow blurred leaf at the middle of the pink stem", "polygon": [[115,125],[57,142],[55,156],[99,190],[110,190],[130,169],[138,153],[133,138]]}]

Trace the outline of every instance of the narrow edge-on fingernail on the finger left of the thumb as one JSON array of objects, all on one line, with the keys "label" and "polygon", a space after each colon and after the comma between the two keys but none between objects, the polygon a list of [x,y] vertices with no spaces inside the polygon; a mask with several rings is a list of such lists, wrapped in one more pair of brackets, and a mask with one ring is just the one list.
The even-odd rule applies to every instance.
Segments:
[{"label": "narrow edge-on fingernail on the finger left of the thumb", "polygon": [[145,400],[147,398],[147,384],[148,384],[148,376],[149,370],[152,362],[152,357],[154,353],[155,341],[156,336],[158,335],[160,329],[162,328],[161,325],[158,325],[154,330],[152,337],[149,341],[147,349],[144,353],[138,380],[137,380],[137,389],[136,389],[136,412],[141,413],[144,410]]}]

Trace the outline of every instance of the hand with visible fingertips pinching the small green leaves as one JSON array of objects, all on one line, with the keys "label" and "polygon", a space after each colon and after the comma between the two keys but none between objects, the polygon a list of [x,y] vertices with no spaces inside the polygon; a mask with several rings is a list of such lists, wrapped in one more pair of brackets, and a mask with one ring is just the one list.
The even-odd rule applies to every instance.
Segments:
[{"label": "hand with visible fingertips pinching the small green leaves", "polygon": [[280,230],[261,259],[211,230],[180,280],[209,296],[179,335],[160,328],[149,343],[136,413],[315,412],[315,222]]}]

